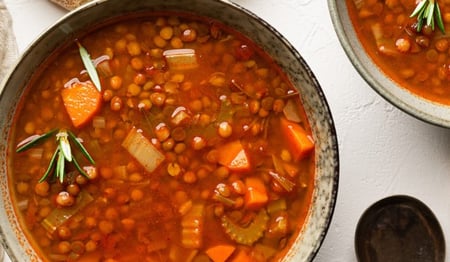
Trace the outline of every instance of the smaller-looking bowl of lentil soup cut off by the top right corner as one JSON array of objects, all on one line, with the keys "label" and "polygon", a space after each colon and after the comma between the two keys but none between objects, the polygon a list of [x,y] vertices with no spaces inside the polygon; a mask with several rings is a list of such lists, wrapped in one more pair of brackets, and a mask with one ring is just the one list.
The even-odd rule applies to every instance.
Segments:
[{"label": "smaller-looking bowl of lentil soup cut off by the top right corner", "polygon": [[[433,19],[422,19],[433,2]],[[347,56],[376,92],[418,119],[450,127],[448,1],[329,0],[328,6]],[[416,7],[423,8],[419,16]]]}]

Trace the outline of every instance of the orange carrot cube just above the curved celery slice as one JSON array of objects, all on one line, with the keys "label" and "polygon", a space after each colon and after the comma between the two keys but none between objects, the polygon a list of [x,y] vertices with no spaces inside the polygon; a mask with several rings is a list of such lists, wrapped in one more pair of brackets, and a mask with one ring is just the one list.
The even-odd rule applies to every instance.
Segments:
[{"label": "orange carrot cube just above the curved celery slice", "polygon": [[269,197],[264,182],[258,177],[247,177],[245,179],[245,206],[248,209],[258,209],[264,206]]}]

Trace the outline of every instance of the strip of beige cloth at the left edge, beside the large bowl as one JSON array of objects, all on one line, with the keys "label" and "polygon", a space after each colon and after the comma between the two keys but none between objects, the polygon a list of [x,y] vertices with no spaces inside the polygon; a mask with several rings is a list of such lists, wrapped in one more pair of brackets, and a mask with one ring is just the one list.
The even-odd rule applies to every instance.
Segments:
[{"label": "strip of beige cloth at the left edge, beside the large bowl", "polygon": [[3,0],[0,0],[0,82],[17,58],[17,54],[17,44],[12,31],[11,16]]}]

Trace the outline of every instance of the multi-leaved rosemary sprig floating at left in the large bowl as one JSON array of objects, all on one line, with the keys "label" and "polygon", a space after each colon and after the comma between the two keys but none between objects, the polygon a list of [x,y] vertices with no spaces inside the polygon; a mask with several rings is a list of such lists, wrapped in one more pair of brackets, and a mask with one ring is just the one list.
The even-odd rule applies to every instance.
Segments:
[{"label": "multi-leaved rosemary sprig floating at left in the large bowl", "polygon": [[89,160],[89,162],[93,165],[95,165],[94,159],[91,157],[91,155],[88,153],[86,148],[83,146],[83,144],[78,140],[78,138],[70,131],[68,130],[51,130],[43,135],[34,135],[27,139],[25,139],[23,142],[19,143],[16,152],[23,152],[31,147],[43,142],[44,140],[51,137],[53,134],[56,133],[56,142],[57,147],[55,149],[55,152],[52,155],[52,158],[50,159],[50,163],[48,164],[48,167],[46,171],[44,172],[44,175],[39,179],[39,183],[47,180],[48,176],[53,172],[53,176],[60,182],[64,182],[65,178],[65,163],[73,163],[75,168],[85,177],[88,177],[86,172],[81,168],[80,164],[76,160],[76,158],[72,154],[72,148],[71,148],[71,142],[77,146],[77,148],[80,150],[82,155]]}]

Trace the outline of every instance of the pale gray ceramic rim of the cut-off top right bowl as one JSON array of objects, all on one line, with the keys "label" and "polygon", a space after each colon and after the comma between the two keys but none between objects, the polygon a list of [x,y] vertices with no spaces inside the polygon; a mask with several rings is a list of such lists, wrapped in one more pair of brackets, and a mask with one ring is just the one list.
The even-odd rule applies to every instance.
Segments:
[{"label": "pale gray ceramic rim of the cut-off top right bowl", "polygon": [[347,56],[366,82],[387,101],[423,121],[450,127],[450,106],[423,99],[399,86],[373,63],[356,36],[344,0],[328,0],[331,19]]}]

